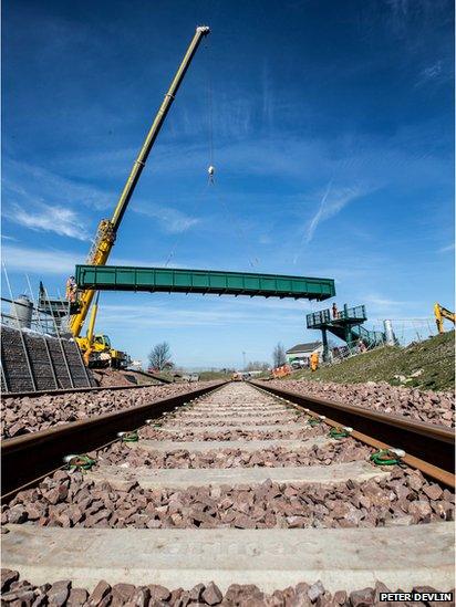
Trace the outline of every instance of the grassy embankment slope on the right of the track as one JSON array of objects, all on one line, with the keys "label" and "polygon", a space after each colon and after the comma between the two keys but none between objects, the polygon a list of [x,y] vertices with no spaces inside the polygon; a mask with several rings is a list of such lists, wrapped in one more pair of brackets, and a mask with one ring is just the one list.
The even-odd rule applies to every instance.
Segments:
[{"label": "grassy embankment slope on the right of the track", "polygon": [[[455,387],[454,369],[455,332],[448,331],[406,348],[376,348],[336,365],[321,367],[315,373],[299,370],[287,379],[315,379],[340,384],[387,381],[393,386],[424,390],[450,390]],[[416,371],[419,375],[412,377]]]}]

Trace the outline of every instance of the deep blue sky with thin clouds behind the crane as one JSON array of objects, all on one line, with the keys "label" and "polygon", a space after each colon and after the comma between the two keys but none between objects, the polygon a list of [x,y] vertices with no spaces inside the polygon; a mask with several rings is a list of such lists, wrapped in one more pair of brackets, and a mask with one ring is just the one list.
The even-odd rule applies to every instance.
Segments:
[{"label": "deep blue sky with thin clouds behind the crane", "polygon": [[[25,274],[63,293],[197,24],[213,33],[111,262],[333,278],[335,301],[365,303],[376,328],[452,307],[454,10],[441,0],[3,2],[14,293]],[[97,328],[144,360],[166,339],[177,364],[238,366],[315,338],[304,313],[325,306],[103,293]]]}]

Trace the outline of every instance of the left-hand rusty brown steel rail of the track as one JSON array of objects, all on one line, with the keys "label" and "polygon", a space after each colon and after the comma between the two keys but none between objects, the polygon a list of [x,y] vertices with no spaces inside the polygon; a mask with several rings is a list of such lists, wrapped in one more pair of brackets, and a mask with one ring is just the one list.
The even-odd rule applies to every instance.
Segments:
[{"label": "left-hand rusty brown steel rail of the track", "polygon": [[225,384],[226,381],[214,381],[204,388],[152,400],[138,407],[3,440],[1,443],[2,499],[11,498],[19,490],[62,467],[65,456],[99,449],[116,440],[117,432],[135,430],[143,426],[147,418],[157,417]]}]

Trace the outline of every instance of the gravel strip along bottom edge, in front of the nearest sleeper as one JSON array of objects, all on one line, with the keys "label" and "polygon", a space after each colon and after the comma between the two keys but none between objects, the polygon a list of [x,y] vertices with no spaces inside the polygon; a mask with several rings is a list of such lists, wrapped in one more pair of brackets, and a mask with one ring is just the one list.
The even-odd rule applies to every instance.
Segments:
[{"label": "gravel strip along bottom edge, in front of the nearest sleeper", "polygon": [[[133,584],[120,583],[111,586],[101,579],[92,593],[85,588],[74,588],[70,579],[61,579],[53,584],[34,586],[27,579],[20,579],[19,572],[1,569],[1,593],[2,605],[21,605],[40,607],[41,605],[64,606],[123,606],[129,607],[159,607],[172,605],[173,607],[186,607],[187,605],[220,605],[221,607],[307,607],[318,606],[341,606],[363,607],[369,605],[392,605],[380,601],[380,593],[401,592],[391,589],[382,582],[376,582],[374,588],[362,588],[356,590],[338,590],[334,594],[324,589],[320,580],[313,584],[301,582],[297,586],[289,586],[283,590],[276,590],[272,594],[262,593],[253,584],[232,584],[224,594],[220,588],[209,582],[197,584],[185,590],[176,588],[169,590],[158,584],[146,586],[134,586]],[[416,587],[416,592],[438,592],[429,587]],[[404,604],[406,605],[406,604]],[[414,603],[413,605],[428,605],[427,603]],[[445,604],[442,604],[445,605]]]}]

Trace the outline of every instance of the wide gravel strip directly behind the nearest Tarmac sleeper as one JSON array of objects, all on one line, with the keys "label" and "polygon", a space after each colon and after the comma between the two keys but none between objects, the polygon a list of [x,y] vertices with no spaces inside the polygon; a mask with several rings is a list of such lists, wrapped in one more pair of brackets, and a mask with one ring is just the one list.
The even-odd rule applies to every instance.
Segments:
[{"label": "wide gravel strip directly behind the nearest Tarmac sleeper", "polygon": [[96,484],[59,470],[2,505],[1,523],[136,528],[373,527],[454,517],[454,493],[414,470],[338,486],[270,480],[255,488],[222,485],[144,490],[135,481]]}]

